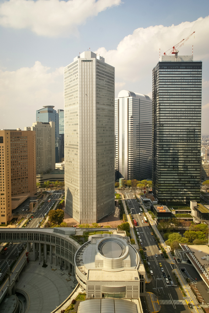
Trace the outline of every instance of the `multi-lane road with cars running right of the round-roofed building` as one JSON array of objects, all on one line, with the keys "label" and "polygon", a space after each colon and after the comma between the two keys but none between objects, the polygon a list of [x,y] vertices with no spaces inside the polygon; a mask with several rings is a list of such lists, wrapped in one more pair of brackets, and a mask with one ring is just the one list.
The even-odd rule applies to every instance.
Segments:
[{"label": "multi-lane road with cars running right of the round-roofed building", "polygon": [[[133,193],[130,192],[124,194],[124,198],[126,199],[129,208],[132,208],[131,211],[133,218],[137,221],[136,230],[140,235],[143,247],[146,249],[144,253],[146,253],[148,256],[148,262],[150,263],[149,269],[153,271],[153,276],[151,276],[152,281],[149,284],[146,284],[146,291],[156,294],[157,285],[157,295],[162,312],[166,312],[168,309],[173,312],[182,310],[189,312],[190,310],[188,309],[187,303],[183,299],[182,293],[180,292],[172,274],[174,264],[168,263],[165,258],[161,257],[158,247],[154,241],[154,236],[151,235],[151,229],[149,228],[148,223],[143,222],[143,213],[141,216],[139,215],[140,203],[134,199]],[[155,256],[155,254],[157,254],[157,256]],[[162,264],[164,272],[162,272],[159,263]],[[166,277],[163,277],[163,274],[165,274]],[[171,285],[171,280],[169,280],[169,283],[166,283],[166,278],[168,278],[168,275],[170,275],[174,286]]]}]

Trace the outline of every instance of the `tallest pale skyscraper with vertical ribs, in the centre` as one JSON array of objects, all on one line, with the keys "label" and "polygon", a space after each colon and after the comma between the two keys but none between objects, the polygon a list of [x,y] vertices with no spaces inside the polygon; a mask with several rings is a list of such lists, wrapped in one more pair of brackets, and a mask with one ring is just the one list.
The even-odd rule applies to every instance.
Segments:
[{"label": "tallest pale skyscraper with vertical ribs, in the centre", "polygon": [[114,212],[114,67],[85,51],[64,75],[66,213],[100,222]]}]

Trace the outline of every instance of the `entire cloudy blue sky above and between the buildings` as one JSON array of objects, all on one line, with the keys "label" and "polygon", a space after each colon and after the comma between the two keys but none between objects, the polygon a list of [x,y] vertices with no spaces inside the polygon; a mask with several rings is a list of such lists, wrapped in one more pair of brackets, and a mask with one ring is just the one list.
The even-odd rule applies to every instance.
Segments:
[{"label": "entire cloudy blue sky above and between the buildings", "polygon": [[202,63],[202,133],[209,134],[209,1],[0,0],[0,129],[24,128],[43,105],[64,108],[63,68],[90,49],[115,67],[115,97],[152,96],[161,54]]}]

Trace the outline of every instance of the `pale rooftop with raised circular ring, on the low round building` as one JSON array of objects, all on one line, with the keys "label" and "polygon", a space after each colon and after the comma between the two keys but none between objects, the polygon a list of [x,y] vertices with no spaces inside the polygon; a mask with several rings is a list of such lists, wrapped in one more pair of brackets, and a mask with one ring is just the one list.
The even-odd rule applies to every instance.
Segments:
[{"label": "pale rooftop with raised circular ring, on the low round building", "polygon": [[76,266],[88,280],[139,280],[139,254],[130,244],[129,237],[121,235],[92,235],[76,252]]}]

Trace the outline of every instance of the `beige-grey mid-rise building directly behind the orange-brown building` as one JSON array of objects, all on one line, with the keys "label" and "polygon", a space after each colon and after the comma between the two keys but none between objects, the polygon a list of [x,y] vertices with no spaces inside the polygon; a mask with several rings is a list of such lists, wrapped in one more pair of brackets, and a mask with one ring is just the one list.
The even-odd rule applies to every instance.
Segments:
[{"label": "beige-grey mid-rise building directly behind the orange-brown building", "polygon": [[36,175],[55,170],[55,122],[36,122],[24,129],[36,133]]}]

